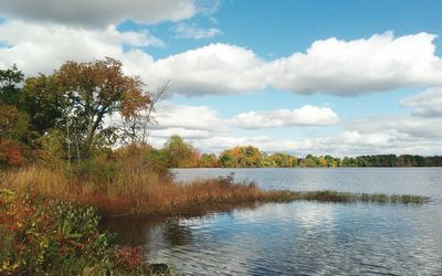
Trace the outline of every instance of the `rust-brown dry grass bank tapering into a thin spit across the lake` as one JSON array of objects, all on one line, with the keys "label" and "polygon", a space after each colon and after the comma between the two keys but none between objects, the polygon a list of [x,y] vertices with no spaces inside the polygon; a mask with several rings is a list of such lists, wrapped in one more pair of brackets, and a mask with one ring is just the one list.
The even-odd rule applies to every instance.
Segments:
[{"label": "rust-brown dry grass bank tapering into a thin spit across the lake", "polygon": [[381,203],[424,203],[429,200],[418,195],[264,191],[253,184],[236,184],[229,177],[185,185],[148,171],[120,173],[103,183],[38,167],[3,172],[0,185],[18,192],[31,189],[49,198],[94,205],[103,214],[192,214],[244,203],[295,200]]}]

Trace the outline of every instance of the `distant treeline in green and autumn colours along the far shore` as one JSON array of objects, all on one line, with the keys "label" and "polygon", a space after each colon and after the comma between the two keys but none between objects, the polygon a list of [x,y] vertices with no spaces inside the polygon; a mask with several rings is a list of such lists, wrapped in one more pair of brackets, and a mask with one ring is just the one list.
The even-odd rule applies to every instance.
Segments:
[{"label": "distant treeline in green and autumn colours along the far shore", "polygon": [[442,156],[371,155],[337,158],[332,156],[295,157],[286,152],[267,155],[256,147],[233,147],[220,155],[199,153],[179,136],[154,150],[170,168],[337,168],[337,167],[442,167]]}]

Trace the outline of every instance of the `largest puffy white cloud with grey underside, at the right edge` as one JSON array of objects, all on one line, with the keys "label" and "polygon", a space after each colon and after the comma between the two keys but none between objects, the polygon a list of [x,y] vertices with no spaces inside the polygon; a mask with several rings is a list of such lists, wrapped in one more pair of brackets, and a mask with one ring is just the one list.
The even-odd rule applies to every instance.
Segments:
[{"label": "largest puffy white cloud with grey underside, at the right edge", "polygon": [[442,84],[442,61],[434,55],[435,35],[319,40],[306,53],[294,53],[267,65],[270,83],[296,93],[355,95],[409,86]]}]

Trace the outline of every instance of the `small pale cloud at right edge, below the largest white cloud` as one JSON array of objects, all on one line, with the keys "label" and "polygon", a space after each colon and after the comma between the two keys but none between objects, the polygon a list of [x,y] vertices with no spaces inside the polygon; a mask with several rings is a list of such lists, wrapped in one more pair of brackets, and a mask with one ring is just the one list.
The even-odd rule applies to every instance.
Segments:
[{"label": "small pale cloud at right edge, below the largest white cloud", "polygon": [[413,115],[442,117],[442,87],[428,88],[418,95],[402,99],[400,103],[413,107]]}]

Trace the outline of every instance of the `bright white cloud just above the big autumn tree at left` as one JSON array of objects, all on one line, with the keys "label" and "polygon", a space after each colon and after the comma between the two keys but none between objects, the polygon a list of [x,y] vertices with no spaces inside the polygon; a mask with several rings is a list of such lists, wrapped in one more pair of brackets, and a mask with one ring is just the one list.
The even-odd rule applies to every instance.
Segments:
[{"label": "bright white cloud just above the big autumn tree at left", "polygon": [[162,44],[147,31],[118,32],[114,25],[101,31],[10,20],[0,24],[0,41],[9,45],[0,47],[0,67],[17,63],[28,75],[51,73],[67,60],[91,61],[104,56],[124,60],[130,54],[123,52],[123,45]]}]

